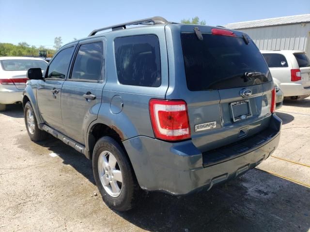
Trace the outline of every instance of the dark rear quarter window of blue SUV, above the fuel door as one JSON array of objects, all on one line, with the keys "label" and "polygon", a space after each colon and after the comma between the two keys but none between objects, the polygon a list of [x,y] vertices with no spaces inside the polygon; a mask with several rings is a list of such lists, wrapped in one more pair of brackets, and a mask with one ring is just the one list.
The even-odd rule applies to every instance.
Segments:
[{"label": "dark rear quarter window of blue SUV, above the fuel door", "polygon": [[114,49],[117,76],[121,84],[160,86],[160,50],[156,35],[116,38]]}]

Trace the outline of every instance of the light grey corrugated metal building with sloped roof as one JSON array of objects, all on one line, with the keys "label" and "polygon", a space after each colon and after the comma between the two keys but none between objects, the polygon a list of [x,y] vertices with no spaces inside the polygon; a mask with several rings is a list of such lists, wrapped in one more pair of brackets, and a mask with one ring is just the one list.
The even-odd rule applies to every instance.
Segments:
[{"label": "light grey corrugated metal building with sloped roof", "polygon": [[310,14],[230,23],[224,27],[244,31],[260,50],[301,50],[310,55]]}]

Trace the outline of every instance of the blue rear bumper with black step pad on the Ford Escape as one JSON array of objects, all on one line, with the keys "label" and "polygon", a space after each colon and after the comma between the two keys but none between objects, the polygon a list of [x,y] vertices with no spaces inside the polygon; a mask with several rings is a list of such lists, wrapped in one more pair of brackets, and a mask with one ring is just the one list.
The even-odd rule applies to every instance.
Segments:
[{"label": "blue rear bumper with black step pad on the Ford Escape", "polygon": [[[141,188],[180,195],[198,188],[210,189],[257,166],[277,148],[280,127],[281,119],[273,115],[267,129],[272,135],[266,131],[248,145],[233,144],[203,154],[190,140],[168,143],[138,136],[123,143]],[[234,146],[233,151],[230,146]],[[225,149],[232,152],[225,153]]]}]

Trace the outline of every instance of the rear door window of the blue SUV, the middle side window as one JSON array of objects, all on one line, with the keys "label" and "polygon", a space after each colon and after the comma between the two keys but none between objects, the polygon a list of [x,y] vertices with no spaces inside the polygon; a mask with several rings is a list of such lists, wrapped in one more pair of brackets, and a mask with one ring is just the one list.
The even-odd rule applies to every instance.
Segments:
[{"label": "rear door window of the blue SUV, the middle side window", "polygon": [[103,63],[103,43],[86,43],[78,49],[71,79],[100,80]]}]

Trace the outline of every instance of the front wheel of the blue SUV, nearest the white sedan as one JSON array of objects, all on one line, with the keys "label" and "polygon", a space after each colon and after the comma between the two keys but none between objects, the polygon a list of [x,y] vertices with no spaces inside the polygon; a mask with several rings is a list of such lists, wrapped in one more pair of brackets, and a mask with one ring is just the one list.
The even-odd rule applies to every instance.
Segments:
[{"label": "front wheel of the blue SUV, nearest the white sedan", "polygon": [[25,104],[24,118],[28,135],[32,141],[39,142],[47,138],[47,132],[41,131],[38,127],[38,122],[30,102]]}]

